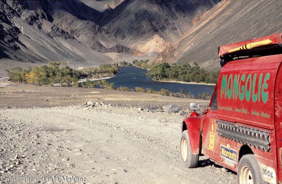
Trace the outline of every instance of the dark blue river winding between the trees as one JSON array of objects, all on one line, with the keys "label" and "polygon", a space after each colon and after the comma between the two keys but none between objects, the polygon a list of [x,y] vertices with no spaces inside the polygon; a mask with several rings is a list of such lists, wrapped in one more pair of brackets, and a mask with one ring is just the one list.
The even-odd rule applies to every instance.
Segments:
[{"label": "dark blue river winding between the trees", "polygon": [[176,82],[158,82],[146,77],[147,70],[136,67],[120,67],[120,73],[116,74],[108,82],[114,83],[114,87],[128,87],[134,89],[135,87],[142,87],[144,89],[151,88],[156,91],[161,89],[169,90],[170,92],[180,92],[184,89],[186,93],[191,92],[195,96],[199,93],[212,94],[214,86],[199,85],[199,84],[181,84]]}]

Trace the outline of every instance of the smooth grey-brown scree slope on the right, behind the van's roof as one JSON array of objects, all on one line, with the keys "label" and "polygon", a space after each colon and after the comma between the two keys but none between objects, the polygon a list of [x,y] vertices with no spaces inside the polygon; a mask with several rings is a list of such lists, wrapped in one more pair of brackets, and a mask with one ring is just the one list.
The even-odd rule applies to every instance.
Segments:
[{"label": "smooth grey-brown scree slope on the right, behind the van's roof", "polygon": [[280,0],[224,0],[151,63],[196,62],[208,70],[219,69],[219,46],[282,32],[281,17]]}]

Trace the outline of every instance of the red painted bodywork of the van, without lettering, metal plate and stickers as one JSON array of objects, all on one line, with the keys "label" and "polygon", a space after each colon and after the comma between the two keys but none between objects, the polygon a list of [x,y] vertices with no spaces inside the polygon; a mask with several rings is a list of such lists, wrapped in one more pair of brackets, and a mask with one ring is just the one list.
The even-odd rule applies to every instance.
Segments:
[{"label": "red painted bodywork of the van, without lettering, metal plate and stickers", "polygon": [[[279,34],[262,37],[254,40],[248,40],[244,42],[239,42],[235,44],[229,44],[220,47],[219,55],[226,54],[230,49],[240,47],[249,42],[256,42],[264,39],[272,39],[274,42],[279,43]],[[242,76],[245,74],[248,76],[254,76],[256,74],[257,84],[253,86],[249,85],[248,81],[241,81],[241,85],[248,86],[247,91],[250,90],[251,86],[254,91],[252,95],[259,95],[262,92],[262,88],[259,89],[258,80],[259,76],[262,74],[265,76],[269,74],[269,79],[266,80],[267,89],[264,86],[265,92],[268,92],[267,100],[260,101],[253,100],[252,96],[250,100],[240,100],[239,98],[225,98],[221,96],[222,80],[224,76],[232,76],[235,74]],[[234,80],[234,78],[233,78]],[[263,80],[263,79],[262,79]],[[254,80],[252,80],[253,82]],[[246,85],[247,82],[247,85]],[[227,86],[231,89],[231,86]],[[216,89],[216,88],[215,88]],[[202,117],[189,117],[185,119],[187,124],[187,129],[189,132],[191,149],[194,154],[197,154],[200,149],[200,143],[202,143],[202,153],[218,162],[222,166],[225,166],[235,172],[237,172],[237,167],[240,162],[239,152],[244,146],[243,144],[237,143],[226,138],[219,137],[216,129],[218,127],[216,120],[224,120],[234,125],[243,125],[245,127],[262,129],[270,132],[270,150],[263,151],[258,148],[250,147],[254,153],[259,164],[263,164],[268,167],[272,167],[276,172],[277,183],[282,183],[282,54],[280,55],[268,55],[261,57],[253,57],[247,59],[240,59],[235,61],[230,61],[222,68],[218,84],[217,84],[217,107],[218,110],[211,110],[211,103],[209,104],[208,110],[202,115]],[[233,95],[233,94],[232,94]],[[234,94],[235,95],[235,94]],[[235,95],[236,96],[236,95]],[[254,99],[256,99],[254,97]],[[212,100],[211,100],[212,101]],[[226,107],[221,108],[219,107]],[[237,108],[237,111],[235,111]],[[241,109],[241,112],[238,110]],[[244,113],[242,113],[244,109]],[[252,111],[257,113],[252,113]],[[263,114],[269,114],[269,117],[263,116]],[[212,125],[213,124],[213,125]],[[214,147],[210,149],[210,135],[212,132],[212,127],[214,127],[215,137],[214,137]],[[200,132],[202,132],[202,142],[200,141]],[[236,162],[234,166],[226,164],[223,157],[220,156],[220,147],[227,146],[237,151]]]}]

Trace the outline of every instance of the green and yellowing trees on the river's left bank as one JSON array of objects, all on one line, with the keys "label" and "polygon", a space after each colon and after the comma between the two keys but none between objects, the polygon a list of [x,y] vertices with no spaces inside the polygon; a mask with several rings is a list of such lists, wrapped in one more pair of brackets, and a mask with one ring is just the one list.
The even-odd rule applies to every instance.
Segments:
[{"label": "green and yellowing trees on the river's left bank", "polygon": [[11,81],[17,83],[28,83],[37,86],[53,85],[60,83],[66,86],[77,86],[80,78],[91,78],[103,76],[112,76],[119,73],[117,66],[103,64],[97,67],[90,67],[82,70],[75,70],[66,65],[66,63],[49,62],[48,65],[36,66],[23,70],[20,67],[7,70]]}]

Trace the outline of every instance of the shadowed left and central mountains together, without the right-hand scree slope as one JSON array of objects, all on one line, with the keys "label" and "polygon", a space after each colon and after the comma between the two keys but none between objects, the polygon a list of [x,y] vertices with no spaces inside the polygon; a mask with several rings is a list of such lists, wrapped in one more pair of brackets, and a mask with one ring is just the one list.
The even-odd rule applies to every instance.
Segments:
[{"label": "shadowed left and central mountains together, without the right-hand scree slope", "polygon": [[0,0],[0,65],[151,58],[218,1]]}]

